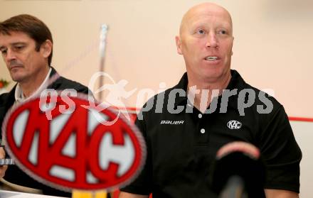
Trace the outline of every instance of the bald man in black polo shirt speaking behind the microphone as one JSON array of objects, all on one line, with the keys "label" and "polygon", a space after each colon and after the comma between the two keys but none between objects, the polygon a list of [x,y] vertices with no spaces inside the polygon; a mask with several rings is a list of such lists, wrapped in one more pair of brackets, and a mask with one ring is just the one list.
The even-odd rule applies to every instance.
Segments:
[{"label": "bald man in black polo shirt speaking behind the microphone", "polygon": [[176,45],[187,72],[139,113],[147,162],[120,198],[218,197],[211,165],[232,141],[260,149],[267,169],[260,197],[298,197],[301,150],[282,105],[230,70],[232,31],[230,14],[216,4],[184,15]]}]

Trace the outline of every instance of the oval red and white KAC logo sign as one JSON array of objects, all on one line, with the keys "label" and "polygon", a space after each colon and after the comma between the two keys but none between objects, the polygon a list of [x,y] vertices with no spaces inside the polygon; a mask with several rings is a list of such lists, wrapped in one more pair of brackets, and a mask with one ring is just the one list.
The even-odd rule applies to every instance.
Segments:
[{"label": "oval red and white KAC logo sign", "polygon": [[[31,99],[6,115],[3,137],[16,164],[36,180],[67,191],[130,182],[146,157],[141,133],[123,118],[110,126],[100,123],[117,118],[110,109],[90,106],[83,97],[68,99],[73,103],[60,96],[46,104]],[[55,107],[52,119],[41,108],[49,103]]]}]

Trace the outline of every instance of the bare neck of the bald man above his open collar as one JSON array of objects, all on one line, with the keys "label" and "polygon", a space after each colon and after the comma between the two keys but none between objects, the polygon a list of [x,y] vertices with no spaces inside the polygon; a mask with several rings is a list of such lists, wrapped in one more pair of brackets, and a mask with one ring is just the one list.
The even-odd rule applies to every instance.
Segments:
[{"label": "bare neck of the bald man above his open collar", "polygon": [[193,100],[193,106],[199,111],[206,111],[214,97],[218,97],[226,89],[231,79],[230,72],[225,77],[216,81],[206,81],[205,79],[188,79],[189,99]]}]

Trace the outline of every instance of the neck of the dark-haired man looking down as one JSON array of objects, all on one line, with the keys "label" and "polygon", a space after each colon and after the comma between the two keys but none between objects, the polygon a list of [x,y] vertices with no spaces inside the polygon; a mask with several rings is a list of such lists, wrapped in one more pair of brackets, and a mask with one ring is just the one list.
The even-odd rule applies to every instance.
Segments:
[{"label": "neck of the dark-haired man looking down", "polygon": [[46,76],[48,75],[50,67],[45,67],[42,70],[39,70],[36,75],[33,75],[31,79],[26,79],[23,82],[19,82],[19,86],[21,87],[23,91],[24,97],[28,98],[36,92],[36,90],[41,86],[44,79],[46,79]]}]

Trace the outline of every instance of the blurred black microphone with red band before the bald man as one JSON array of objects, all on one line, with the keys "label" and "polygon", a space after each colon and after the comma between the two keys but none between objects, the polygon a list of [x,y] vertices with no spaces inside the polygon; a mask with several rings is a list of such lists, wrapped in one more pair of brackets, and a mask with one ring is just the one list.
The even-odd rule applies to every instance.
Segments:
[{"label": "blurred black microphone with red band before the bald man", "polygon": [[213,163],[211,187],[221,198],[265,197],[265,165],[250,143],[223,145]]}]

